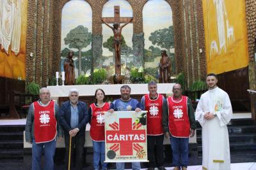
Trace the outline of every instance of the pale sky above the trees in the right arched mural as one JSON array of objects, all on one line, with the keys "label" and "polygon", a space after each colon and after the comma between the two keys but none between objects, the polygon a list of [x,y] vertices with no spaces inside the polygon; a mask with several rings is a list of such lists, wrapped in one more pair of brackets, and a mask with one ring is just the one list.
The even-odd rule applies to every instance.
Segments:
[{"label": "pale sky above the trees in the right arched mural", "polygon": [[[151,32],[173,25],[172,8],[164,0],[148,0],[143,8],[143,32],[145,49],[152,45],[148,40]],[[156,46],[156,45],[154,45]],[[161,48],[160,46],[157,46]]]}]

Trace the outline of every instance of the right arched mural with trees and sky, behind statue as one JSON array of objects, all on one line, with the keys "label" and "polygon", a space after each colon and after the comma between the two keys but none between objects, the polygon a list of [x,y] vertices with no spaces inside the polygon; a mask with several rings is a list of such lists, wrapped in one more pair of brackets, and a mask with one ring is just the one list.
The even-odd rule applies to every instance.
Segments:
[{"label": "right arched mural with trees and sky, behind statue", "polygon": [[145,38],[144,62],[145,73],[159,78],[159,62],[161,50],[166,50],[174,62],[174,34],[172,9],[164,0],[149,0],[143,8],[143,31]]}]

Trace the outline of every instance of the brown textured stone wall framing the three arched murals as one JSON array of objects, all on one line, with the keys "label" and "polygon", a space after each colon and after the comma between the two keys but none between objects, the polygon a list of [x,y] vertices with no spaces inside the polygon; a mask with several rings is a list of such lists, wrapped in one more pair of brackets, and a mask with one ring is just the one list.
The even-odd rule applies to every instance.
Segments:
[{"label": "brown textured stone wall framing the three arched murals", "polygon": [[[60,71],[61,11],[68,0],[29,0],[27,31],[27,81],[47,85],[48,79]],[[102,8],[106,0],[88,0],[92,8],[92,34],[102,36]],[[147,0],[128,0],[133,10],[133,34],[143,34],[143,6]],[[205,59],[204,17],[200,0],[166,0],[173,11],[176,73],[184,72],[188,86],[204,80],[207,74]],[[254,0],[246,0],[248,50],[251,89],[255,88],[255,27]],[[142,49],[142,48],[141,48]],[[202,50],[202,52],[201,52]],[[30,57],[33,52],[33,57]],[[96,54],[93,53],[93,58]],[[143,62],[143,61],[142,61]]]}]

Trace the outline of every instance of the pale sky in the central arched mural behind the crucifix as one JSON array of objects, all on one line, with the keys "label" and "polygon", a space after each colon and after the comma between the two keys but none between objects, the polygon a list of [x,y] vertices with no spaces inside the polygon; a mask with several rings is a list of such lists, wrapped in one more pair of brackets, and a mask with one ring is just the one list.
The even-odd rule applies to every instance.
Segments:
[{"label": "pale sky in the central arched mural behind the crucifix", "polygon": [[[132,7],[127,1],[110,0],[103,6],[102,17],[114,17],[114,6],[120,6],[120,17],[132,17]],[[109,24],[113,25],[113,24]],[[122,24],[121,24],[122,25]],[[113,31],[105,24],[102,24],[103,43],[110,36],[113,36]],[[133,24],[128,24],[122,29],[122,35],[128,46],[132,47]],[[113,52],[109,52],[108,48],[102,47],[102,55],[110,56]]]}]

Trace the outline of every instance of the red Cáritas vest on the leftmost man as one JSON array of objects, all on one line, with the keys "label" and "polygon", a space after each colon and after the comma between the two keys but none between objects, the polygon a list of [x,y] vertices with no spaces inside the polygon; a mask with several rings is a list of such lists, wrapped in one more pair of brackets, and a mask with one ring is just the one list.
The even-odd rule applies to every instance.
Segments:
[{"label": "red C\u00e1ritas vest on the leftmost man", "polygon": [[47,106],[42,106],[38,101],[34,102],[34,129],[36,143],[52,141],[57,134],[57,121],[54,113],[54,101]]}]

